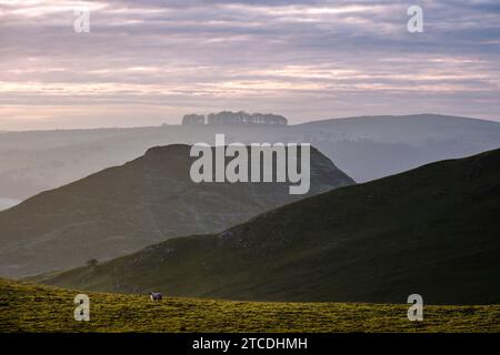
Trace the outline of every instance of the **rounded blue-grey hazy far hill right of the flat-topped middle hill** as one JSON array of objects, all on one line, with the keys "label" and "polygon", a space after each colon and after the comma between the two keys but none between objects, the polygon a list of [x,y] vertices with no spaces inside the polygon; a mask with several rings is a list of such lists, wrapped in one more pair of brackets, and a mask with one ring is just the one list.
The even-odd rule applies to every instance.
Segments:
[{"label": "rounded blue-grey hazy far hill right of the flat-topped middle hill", "polygon": [[500,122],[441,114],[357,116],[292,128],[357,182],[500,146]]}]

